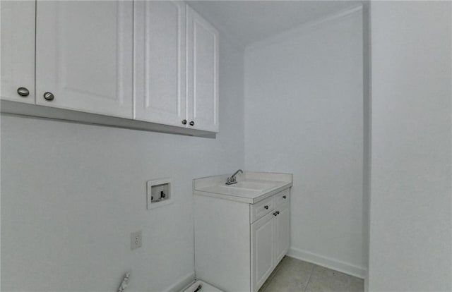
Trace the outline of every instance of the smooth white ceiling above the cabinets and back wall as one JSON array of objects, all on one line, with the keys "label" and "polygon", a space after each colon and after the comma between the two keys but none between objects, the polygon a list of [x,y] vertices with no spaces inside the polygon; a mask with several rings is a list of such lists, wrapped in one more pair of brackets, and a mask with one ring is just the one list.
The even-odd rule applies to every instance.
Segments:
[{"label": "smooth white ceiling above the cabinets and back wall", "polygon": [[359,1],[190,1],[216,28],[242,46],[302,23],[359,5]]}]

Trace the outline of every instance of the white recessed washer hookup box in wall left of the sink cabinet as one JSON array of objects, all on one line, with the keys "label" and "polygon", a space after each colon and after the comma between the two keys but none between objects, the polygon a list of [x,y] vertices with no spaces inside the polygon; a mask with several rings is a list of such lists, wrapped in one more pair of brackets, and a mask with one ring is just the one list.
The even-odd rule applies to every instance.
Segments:
[{"label": "white recessed washer hookup box in wall left of the sink cabinet", "polygon": [[160,178],[147,182],[148,209],[161,207],[173,202],[172,179]]}]

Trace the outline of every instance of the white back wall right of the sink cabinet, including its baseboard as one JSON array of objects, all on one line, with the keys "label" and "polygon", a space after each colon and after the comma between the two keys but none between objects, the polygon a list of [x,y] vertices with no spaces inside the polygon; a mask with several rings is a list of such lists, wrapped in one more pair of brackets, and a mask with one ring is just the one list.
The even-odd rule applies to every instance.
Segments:
[{"label": "white back wall right of the sink cabinet, including its baseboard", "polygon": [[289,255],[364,276],[362,9],[245,54],[245,168],[292,173]]}]

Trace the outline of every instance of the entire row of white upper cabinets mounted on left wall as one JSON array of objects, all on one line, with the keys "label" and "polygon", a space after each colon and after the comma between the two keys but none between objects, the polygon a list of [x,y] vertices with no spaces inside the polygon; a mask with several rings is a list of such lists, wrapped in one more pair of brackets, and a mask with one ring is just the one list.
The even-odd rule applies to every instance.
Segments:
[{"label": "entire row of white upper cabinets mounted on left wall", "polygon": [[2,112],[218,132],[218,32],[184,1],[6,0],[0,8],[0,97],[44,106],[2,102]]}]

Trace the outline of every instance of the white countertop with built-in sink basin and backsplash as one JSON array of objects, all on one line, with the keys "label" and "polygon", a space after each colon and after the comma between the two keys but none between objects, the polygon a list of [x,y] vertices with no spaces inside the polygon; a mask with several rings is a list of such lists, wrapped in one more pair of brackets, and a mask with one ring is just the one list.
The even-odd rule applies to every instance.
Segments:
[{"label": "white countertop with built-in sink basin and backsplash", "polygon": [[194,194],[254,204],[292,186],[292,174],[245,172],[237,183],[226,185],[231,174],[194,179]]}]

